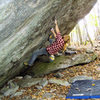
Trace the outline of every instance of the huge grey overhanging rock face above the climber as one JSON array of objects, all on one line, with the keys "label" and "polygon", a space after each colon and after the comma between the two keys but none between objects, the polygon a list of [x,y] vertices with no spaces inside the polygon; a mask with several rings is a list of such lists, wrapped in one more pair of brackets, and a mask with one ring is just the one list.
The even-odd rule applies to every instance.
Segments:
[{"label": "huge grey overhanging rock face above the climber", "polygon": [[0,0],[0,87],[25,70],[23,62],[44,46],[54,18],[69,34],[96,0]]}]

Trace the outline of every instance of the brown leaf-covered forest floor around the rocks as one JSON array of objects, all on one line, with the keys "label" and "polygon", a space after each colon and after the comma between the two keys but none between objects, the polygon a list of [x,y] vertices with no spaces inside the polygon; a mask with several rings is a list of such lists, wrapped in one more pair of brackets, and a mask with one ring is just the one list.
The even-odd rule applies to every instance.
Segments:
[{"label": "brown leaf-covered forest floor around the rocks", "polygon": [[[89,47],[89,45],[84,47],[81,46],[77,48],[81,50],[82,48],[87,48],[87,47]],[[100,80],[100,66],[98,66],[98,64],[100,64],[100,41],[95,42],[94,49],[95,52],[98,53],[98,58],[94,62],[85,65],[73,66],[61,70],[60,73],[63,74],[63,77],[61,79],[69,81],[69,79],[72,77],[83,75],[83,76],[92,77],[95,80]],[[45,75],[44,77],[47,79],[55,78],[54,74],[55,73],[51,73],[49,75]],[[25,89],[27,91],[23,95],[21,95],[21,97],[16,96],[12,99],[9,99],[9,97],[5,97],[3,100],[25,100],[25,99],[20,99],[25,96],[30,96],[31,99],[29,100],[66,100],[65,98],[70,89],[70,86],[61,86],[61,85],[49,83],[41,90],[35,88],[35,86],[32,86],[30,88],[25,88]],[[37,92],[38,95],[35,95]],[[52,98],[51,97],[47,98],[48,96],[44,96],[45,94],[46,95],[51,94]],[[88,99],[88,100],[92,100],[92,99]],[[100,99],[96,99],[96,100],[100,100]]]}]

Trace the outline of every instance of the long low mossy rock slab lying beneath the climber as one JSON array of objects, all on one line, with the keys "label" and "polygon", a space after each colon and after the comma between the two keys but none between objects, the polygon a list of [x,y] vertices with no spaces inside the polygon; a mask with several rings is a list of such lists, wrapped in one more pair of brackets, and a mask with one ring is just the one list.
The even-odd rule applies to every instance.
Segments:
[{"label": "long low mossy rock slab lying beneath the climber", "polygon": [[96,53],[82,53],[70,56],[62,55],[60,57],[56,57],[55,61],[51,63],[37,62],[34,67],[28,70],[27,74],[34,73],[34,77],[38,77],[74,65],[90,63],[94,61],[97,57],[98,55]]}]

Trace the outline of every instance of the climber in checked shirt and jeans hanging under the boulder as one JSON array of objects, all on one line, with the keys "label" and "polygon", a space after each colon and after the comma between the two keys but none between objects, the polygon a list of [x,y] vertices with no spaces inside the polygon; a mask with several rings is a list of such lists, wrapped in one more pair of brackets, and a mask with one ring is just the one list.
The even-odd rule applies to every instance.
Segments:
[{"label": "climber in checked shirt and jeans hanging under the boulder", "polygon": [[[51,43],[49,46],[46,48],[41,48],[37,51],[35,51],[32,54],[31,59],[29,60],[28,64],[24,63],[24,65],[32,66],[36,58],[40,55],[47,55],[51,61],[55,59],[55,54],[57,54],[60,50],[63,50],[63,52],[66,50],[66,44],[67,42],[70,41],[70,36],[69,35],[64,35],[63,37],[60,34],[60,30],[58,28],[57,20],[55,20],[55,30],[52,28],[51,32],[53,33],[55,37],[55,41]],[[51,36],[50,36],[51,37]],[[49,38],[50,38],[49,37]]]}]

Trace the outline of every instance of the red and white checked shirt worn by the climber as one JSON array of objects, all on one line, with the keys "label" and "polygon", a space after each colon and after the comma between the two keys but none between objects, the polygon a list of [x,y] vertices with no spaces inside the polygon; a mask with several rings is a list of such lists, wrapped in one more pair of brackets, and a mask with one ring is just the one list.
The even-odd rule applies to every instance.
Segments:
[{"label": "red and white checked shirt worn by the climber", "polygon": [[56,35],[56,40],[51,45],[46,47],[47,52],[50,55],[56,54],[59,50],[61,50],[64,46],[64,40],[60,33]]}]

